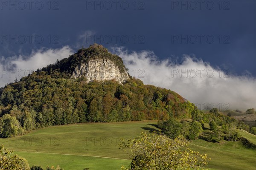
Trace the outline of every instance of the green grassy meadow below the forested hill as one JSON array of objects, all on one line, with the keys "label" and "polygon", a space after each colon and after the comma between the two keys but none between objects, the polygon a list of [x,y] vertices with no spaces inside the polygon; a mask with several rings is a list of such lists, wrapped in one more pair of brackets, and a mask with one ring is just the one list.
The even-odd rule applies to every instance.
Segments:
[{"label": "green grassy meadow below the forested hill", "polygon": [[[59,165],[64,170],[118,170],[128,166],[129,156],[119,150],[119,139],[130,139],[142,131],[157,130],[157,121],[84,123],[46,127],[11,139],[0,139],[6,148],[15,150],[29,164],[47,167]],[[242,133],[250,141],[256,136]],[[201,139],[190,147],[207,153],[210,170],[256,170],[256,152],[241,142],[209,143]],[[98,156],[98,157],[95,157]]]}]

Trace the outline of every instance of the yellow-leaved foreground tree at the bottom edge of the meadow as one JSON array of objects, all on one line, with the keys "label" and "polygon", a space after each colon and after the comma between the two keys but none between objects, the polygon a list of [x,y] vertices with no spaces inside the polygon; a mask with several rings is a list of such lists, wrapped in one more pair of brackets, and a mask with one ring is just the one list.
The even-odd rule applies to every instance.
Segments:
[{"label": "yellow-leaved foreground tree at the bottom edge of the meadow", "polygon": [[153,134],[129,139],[121,139],[119,149],[131,151],[130,168],[122,170],[198,170],[207,164],[207,155],[200,155],[188,147],[188,142],[178,136],[174,140]]}]

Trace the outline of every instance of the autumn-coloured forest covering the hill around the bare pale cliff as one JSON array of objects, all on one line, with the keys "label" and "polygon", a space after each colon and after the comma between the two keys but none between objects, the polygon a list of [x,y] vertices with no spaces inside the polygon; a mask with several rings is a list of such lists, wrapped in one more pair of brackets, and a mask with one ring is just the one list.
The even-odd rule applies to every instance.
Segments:
[{"label": "autumn-coloured forest covering the hill around the bare pale cliff", "polygon": [[121,74],[127,71],[120,57],[100,45],[92,45],[1,88],[0,137],[22,135],[52,125],[170,116],[191,118],[197,112],[192,103],[174,91],[144,85],[139,79],[128,77],[120,83],[113,77],[88,83],[83,75],[70,78],[77,65],[102,57],[114,63],[106,66],[115,69],[114,74],[119,74],[116,66]]}]

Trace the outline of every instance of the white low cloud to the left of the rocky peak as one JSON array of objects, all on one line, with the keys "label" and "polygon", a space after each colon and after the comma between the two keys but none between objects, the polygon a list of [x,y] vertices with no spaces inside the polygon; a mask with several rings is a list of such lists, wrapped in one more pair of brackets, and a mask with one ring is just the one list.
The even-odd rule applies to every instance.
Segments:
[{"label": "white low cloud to the left of the rocky peak", "polygon": [[69,46],[64,46],[57,49],[41,48],[37,51],[32,51],[29,56],[1,57],[0,87],[14,82],[15,79],[19,80],[38,68],[55,63],[57,59],[66,58],[70,54],[73,54],[73,50]]}]

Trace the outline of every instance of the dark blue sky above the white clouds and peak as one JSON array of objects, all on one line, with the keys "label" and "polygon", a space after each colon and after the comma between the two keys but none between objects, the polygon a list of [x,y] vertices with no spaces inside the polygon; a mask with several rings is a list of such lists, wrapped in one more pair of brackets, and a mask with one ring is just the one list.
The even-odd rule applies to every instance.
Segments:
[{"label": "dark blue sky above the white clouds and peak", "polygon": [[1,57],[42,47],[77,50],[96,40],[160,59],[195,54],[256,76],[255,0],[1,0],[0,10]]}]

